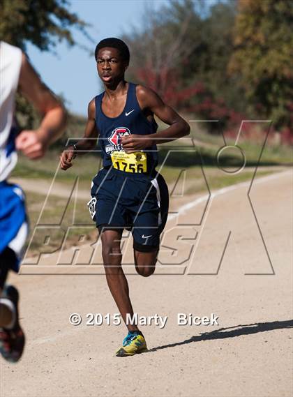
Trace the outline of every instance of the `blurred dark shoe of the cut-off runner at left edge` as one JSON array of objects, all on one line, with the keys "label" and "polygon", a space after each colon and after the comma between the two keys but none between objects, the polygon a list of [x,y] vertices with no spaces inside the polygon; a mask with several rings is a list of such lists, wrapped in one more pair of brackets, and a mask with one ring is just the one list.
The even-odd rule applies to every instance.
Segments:
[{"label": "blurred dark shoe of the cut-off runner at left edge", "polygon": [[11,363],[16,363],[24,350],[24,333],[18,322],[18,299],[17,289],[13,285],[7,285],[2,294],[3,298],[9,299],[15,307],[16,320],[12,329],[0,328],[0,353],[3,358]]}]

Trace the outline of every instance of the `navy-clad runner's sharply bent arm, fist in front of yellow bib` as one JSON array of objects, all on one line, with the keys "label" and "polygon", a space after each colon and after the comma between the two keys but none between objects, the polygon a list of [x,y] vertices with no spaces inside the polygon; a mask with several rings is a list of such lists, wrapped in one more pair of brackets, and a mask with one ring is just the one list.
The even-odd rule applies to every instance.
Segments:
[{"label": "navy-clad runner's sharply bent arm, fist in front of yellow bib", "polygon": [[153,144],[170,142],[190,133],[188,123],[172,107],[166,105],[156,92],[146,87],[137,86],[136,93],[141,109],[156,114],[160,120],[169,124],[169,127],[159,133],[144,135],[143,139],[142,135],[137,134],[123,137],[121,142],[127,153],[146,149]]}]

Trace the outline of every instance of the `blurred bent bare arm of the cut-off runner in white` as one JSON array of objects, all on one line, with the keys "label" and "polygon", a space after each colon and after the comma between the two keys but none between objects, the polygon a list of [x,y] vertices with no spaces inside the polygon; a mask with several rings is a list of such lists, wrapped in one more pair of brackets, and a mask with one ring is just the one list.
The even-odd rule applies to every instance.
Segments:
[{"label": "blurred bent bare arm of the cut-off runner in white", "polygon": [[36,130],[23,130],[15,141],[18,150],[31,158],[40,158],[66,127],[66,111],[54,93],[46,87],[27,57],[22,54],[19,89],[42,114]]}]

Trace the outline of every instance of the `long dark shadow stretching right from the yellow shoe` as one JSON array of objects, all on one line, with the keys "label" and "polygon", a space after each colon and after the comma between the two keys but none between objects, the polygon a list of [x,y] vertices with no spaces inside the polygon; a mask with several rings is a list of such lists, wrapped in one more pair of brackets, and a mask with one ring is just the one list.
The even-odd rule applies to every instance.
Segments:
[{"label": "long dark shadow stretching right from the yellow shoe", "polygon": [[215,331],[204,332],[204,334],[192,336],[191,338],[182,340],[181,342],[153,347],[149,350],[149,352],[156,352],[157,350],[167,349],[167,347],[176,347],[180,345],[187,345],[188,343],[201,342],[202,340],[235,338],[236,336],[258,334],[259,332],[273,331],[274,329],[292,327],[293,320],[256,322],[255,324],[236,325],[235,327],[220,328],[216,329]]}]

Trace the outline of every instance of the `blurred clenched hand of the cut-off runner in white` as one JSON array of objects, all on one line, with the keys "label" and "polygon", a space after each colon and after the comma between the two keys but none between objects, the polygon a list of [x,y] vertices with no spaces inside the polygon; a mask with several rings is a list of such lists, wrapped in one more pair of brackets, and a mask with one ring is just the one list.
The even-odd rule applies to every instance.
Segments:
[{"label": "blurred clenched hand of the cut-off runner in white", "polygon": [[47,143],[38,134],[38,130],[23,130],[17,135],[15,146],[31,160],[43,157],[47,150]]}]

